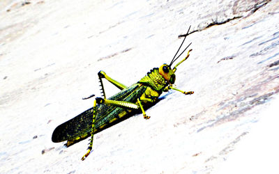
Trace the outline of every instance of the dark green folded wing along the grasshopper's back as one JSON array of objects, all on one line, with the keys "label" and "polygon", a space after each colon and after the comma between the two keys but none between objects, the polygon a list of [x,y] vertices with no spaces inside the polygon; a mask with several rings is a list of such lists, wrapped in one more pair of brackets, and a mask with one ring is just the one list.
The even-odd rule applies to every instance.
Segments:
[{"label": "dark green folded wing along the grasshopper's back", "polygon": [[[137,97],[142,95],[142,93],[144,93],[144,90],[144,86],[134,84],[133,86],[121,90],[120,93],[113,95],[109,98],[109,100],[136,102]],[[102,131],[107,127],[112,126],[112,124],[110,124],[110,121],[114,118],[117,118],[117,116],[123,111],[126,111],[126,109],[116,106],[107,106],[105,104],[98,105],[94,134]],[[59,125],[58,127],[56,127],[56,129],[54,129],[54,132],[52,134],[52,141],[54,143],[59,143],[61,141],[67,140],[80,141],[90,136],[92,127],[92,116],[93,107],[87,109],[83,113],[80,113],[75,118],[72,118],[67,122]]]}]

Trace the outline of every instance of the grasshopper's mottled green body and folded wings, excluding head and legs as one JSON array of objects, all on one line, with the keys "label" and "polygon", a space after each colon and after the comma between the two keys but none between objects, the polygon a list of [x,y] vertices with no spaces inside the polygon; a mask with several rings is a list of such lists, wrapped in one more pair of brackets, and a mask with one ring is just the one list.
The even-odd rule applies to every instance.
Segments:
[{"label": "grasshopper's mottled green body and folded wings, excluding head and legs", "polygon": [[[167,86],[165,79],[158,73],[158,68],[154,68],[137,82],[137,84],[121,90],[121,92],[108,98],[108,100],[137,103],[138,98],[146,97],[150,99],[150,101],[143,103],[146,106],[146,104],[155,102],[158,99],[165,86]],[[137,109],[127,109],[119,106],[109,106],[107,104],[97,105],[94,134],[114,125],[115,122],[123,120],[123,118],[129,115],[133,115],[135,110]],[[67,145],[71,145],[90,136],[92,115],[93,107],[59,125],[54,129],[52,141],[55,143],[68,141]]]}]

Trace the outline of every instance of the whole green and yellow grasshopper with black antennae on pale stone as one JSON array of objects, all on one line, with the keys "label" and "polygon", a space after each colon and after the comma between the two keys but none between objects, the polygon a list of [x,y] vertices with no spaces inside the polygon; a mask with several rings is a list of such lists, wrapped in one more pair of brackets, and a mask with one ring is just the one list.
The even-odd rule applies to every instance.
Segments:
[{"label": "whole green and yellow grasshopper with black antennae on pale stone", "polygon": [[[160,68],[153,68],[153,70],[148,72],[146,76],[140,79],[140,81],[130,87],[112,79],[103,71],[98,72],[103,97],[96,97],[93,102],[93,107],[56,127],[52,134],[52,141],[54,143],[67,141],[66,146],[68,147],[91,136],[88,151],[82,157],[82,160],[84,160],[88,157],[92,150],[94,134],[106,129],[107,127],[115,125],[125,118],[135,114],[137,111],[142,112],[144,119],[149,119],[150,117],[146,116],[144,108],[156,104],[156,101],[158,102],[158,97],[163,92],[167,92],[168,90],[178,90],[185,95],[193,94],[193,91],[184,92],[183,90],[179,90],[172,86],[175,82],[176,76],[174,72],[176,72],[176,67],[183,61],[186,61],[192,51],[192,49],[190,49],[187,56],[183,58],[182,61],[177,63],[174,68],[171,68],[174,61],[176,61],[177,58],[179,58],[181,54],[183,54],[183,52],[185,52],[191,45],[190,43],[186,49],[184,49],[183,52],[176,57],[186,39],[186,36],[189,35],[189,30],[190,27],[185,35],[179,35],[179,38],[183,37],[184,39],[174,55],[174,58],[172,58],[171,63],[168,65],[165,63],[161,65]],[[119,88],[121,92],[113,95],[112,97],[106,98],[102,79],[110,81],[114,84],[114,86]],[[94,95],[91,95],[90,97],[93,96]],[[88,99],[90,97],[84,99]]]}]

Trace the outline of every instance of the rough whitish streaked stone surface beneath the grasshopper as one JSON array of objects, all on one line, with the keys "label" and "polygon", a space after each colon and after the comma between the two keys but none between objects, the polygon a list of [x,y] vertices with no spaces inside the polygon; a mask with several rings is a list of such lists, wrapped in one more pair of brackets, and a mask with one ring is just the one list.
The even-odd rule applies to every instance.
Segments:
[{"label": "rough whitish streaked stone surface beneath the grasshopper", "polygon": [[[247,137],[278,113],[278,19],[279,1],[1,1],[0,173],[215,173],[234,166],[229,156],[245,156],[241,143],[256,145]],[[92,106],[82,97],[100,95],[98,71],[133,84],[171,61],[190,25],[193,52],[175,84],[194,95],[165,93],[146,111],[151,119],[137,115],[96,134],[86,161],[88,141],[52,143],[57,125]],[[119,91],[108,83],[105,90]],[[264,139],[259,155],[276,137]]]}]

